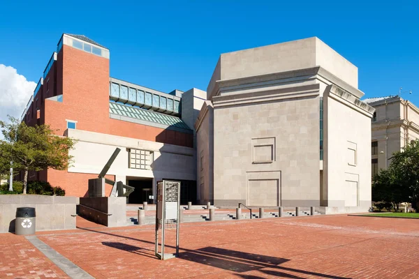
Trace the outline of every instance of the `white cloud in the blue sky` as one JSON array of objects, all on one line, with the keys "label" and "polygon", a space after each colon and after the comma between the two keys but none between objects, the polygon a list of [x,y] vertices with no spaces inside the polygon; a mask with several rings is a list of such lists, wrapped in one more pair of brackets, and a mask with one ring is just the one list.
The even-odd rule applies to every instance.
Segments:
[{"label": "white cloud in the blue sky", "polygon": [[0,64],[0,120],[8,120],[8,114],[20,119],[35,87],[15,68]]}]

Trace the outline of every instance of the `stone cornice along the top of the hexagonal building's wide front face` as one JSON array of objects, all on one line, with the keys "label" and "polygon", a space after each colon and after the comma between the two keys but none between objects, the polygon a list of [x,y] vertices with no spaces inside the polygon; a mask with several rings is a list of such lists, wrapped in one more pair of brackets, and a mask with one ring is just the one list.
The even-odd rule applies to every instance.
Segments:
[{"label": "stone cornice along the top of the hexagonal building's wide front face", "polygon": [[213,103],[215,107],[226,107],[231,105],[244,105],[261,102],[270,102],[274,100],[286,100],[295,98],[307,98],[319,95],[320,84],[307,84],[302,86],[293,86],[287,88],[265,87],[263,91],[257,88],[256,91],[247,93],[231,94],[225,96],[214,96]]}]

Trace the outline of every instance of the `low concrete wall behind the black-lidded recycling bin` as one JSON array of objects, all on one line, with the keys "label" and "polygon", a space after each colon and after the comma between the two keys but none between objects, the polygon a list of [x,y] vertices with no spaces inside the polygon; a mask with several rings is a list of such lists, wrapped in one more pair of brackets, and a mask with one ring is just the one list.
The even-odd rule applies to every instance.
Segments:
[{"label": "low concrete wall behind the black-lidded recycling bin", "polygon": [[15,231],[17,207],[35,207],[37,232],[75,229],[76,203],[76,197],[0,195],[0,232]]}]

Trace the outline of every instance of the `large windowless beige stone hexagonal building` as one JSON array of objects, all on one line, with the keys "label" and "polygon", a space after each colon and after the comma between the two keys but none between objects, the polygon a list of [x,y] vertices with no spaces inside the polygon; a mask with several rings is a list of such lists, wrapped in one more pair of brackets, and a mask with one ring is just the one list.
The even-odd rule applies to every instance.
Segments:
[{"label": "large windowless beige stone hexagonal building", "polygon": [[318,38],[221,54],[195,123],[198,201],[371,206],[358,68]]}]

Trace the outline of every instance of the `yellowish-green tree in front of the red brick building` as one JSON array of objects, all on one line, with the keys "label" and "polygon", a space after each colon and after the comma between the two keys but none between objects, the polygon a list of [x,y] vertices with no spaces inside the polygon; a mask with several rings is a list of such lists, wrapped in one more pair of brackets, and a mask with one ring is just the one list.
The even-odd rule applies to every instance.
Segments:
[{"label": "yellowish-green tree in front of the red brick building", "polygon": [[74,140],[69,137],[54,135],[49,126],[27,126],[26,123],[9,116],[8,123],[0,121],[0,169],[24,172],[23,194],[27,193],[29,171],[40,171],[47,168],[67,169],[72,156],[68,151],[73,149]]}]

